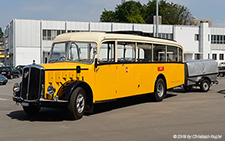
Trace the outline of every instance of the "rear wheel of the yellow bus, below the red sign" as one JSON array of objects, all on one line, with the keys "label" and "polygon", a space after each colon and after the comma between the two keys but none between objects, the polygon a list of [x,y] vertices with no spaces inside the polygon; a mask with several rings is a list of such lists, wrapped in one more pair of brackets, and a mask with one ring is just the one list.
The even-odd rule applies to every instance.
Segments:
[{"label": "rear wheel of the yellow bus, below the red sign", "polygon": [[153,100],[160,102],[166,96],[166,85],[162,78],[159,78],[155,83],[155,90],[153,94]]}]

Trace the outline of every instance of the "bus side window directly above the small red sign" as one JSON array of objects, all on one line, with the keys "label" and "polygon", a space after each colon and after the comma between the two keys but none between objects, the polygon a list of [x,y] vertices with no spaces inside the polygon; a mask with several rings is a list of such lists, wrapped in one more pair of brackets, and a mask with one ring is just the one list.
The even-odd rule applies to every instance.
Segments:
[{"label": "bus side window directly above the small red sign", "polygon": [[154,62],[165,62],[166,55],[165,55],[165,45],[153,45],[153,59]]}]

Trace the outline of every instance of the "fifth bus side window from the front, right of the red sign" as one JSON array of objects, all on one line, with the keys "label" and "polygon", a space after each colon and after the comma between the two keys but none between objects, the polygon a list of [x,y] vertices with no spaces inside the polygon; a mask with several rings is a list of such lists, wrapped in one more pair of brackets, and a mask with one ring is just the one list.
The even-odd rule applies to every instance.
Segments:
[{"label": "fifth bus side window from the front, right of the red sign", "polygon": [[167,47],[167,62],[178,62],[177,47]]}]

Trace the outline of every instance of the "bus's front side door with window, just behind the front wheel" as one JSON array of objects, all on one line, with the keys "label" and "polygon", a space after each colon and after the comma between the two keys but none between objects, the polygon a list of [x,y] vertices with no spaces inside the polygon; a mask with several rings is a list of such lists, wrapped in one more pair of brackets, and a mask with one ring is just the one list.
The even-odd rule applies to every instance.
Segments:
[{"label": "bus's front side door with window, just behind the front wheel", "polygon": [[96,73],[95,100],[110,100],[116,98],[115,42],[104,42],[101,45]]}]

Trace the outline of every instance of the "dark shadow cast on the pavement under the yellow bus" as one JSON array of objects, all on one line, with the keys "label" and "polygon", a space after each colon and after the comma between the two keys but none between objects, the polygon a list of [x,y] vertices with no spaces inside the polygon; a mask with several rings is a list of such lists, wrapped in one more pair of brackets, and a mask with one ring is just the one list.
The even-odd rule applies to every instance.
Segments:
[{"label": "dark shadow cast on the pavement under the yellow bus", "polygon": [[[167,98],[176,96],[175,94],[167,94]],[[127,98],[121,98],[114,101],[96,103],[94,104],[93,113],[85,113],[85,116],[91,116],[93,114],[100,114],[108,112],[111,110],[116,110],[119,108],[125,108],[128,106],[134,106],[138,104],[143,104],[147,102],[153,102],[151,95],[139,95]],[[23,110],[13,111],[7,114],[8,117],[12,119],[17,119],[20,121],[64,121],[70,120],[66,109],[53,109],[53,108],[42,108],[41,111],[33,116],[26,114]]]}]

